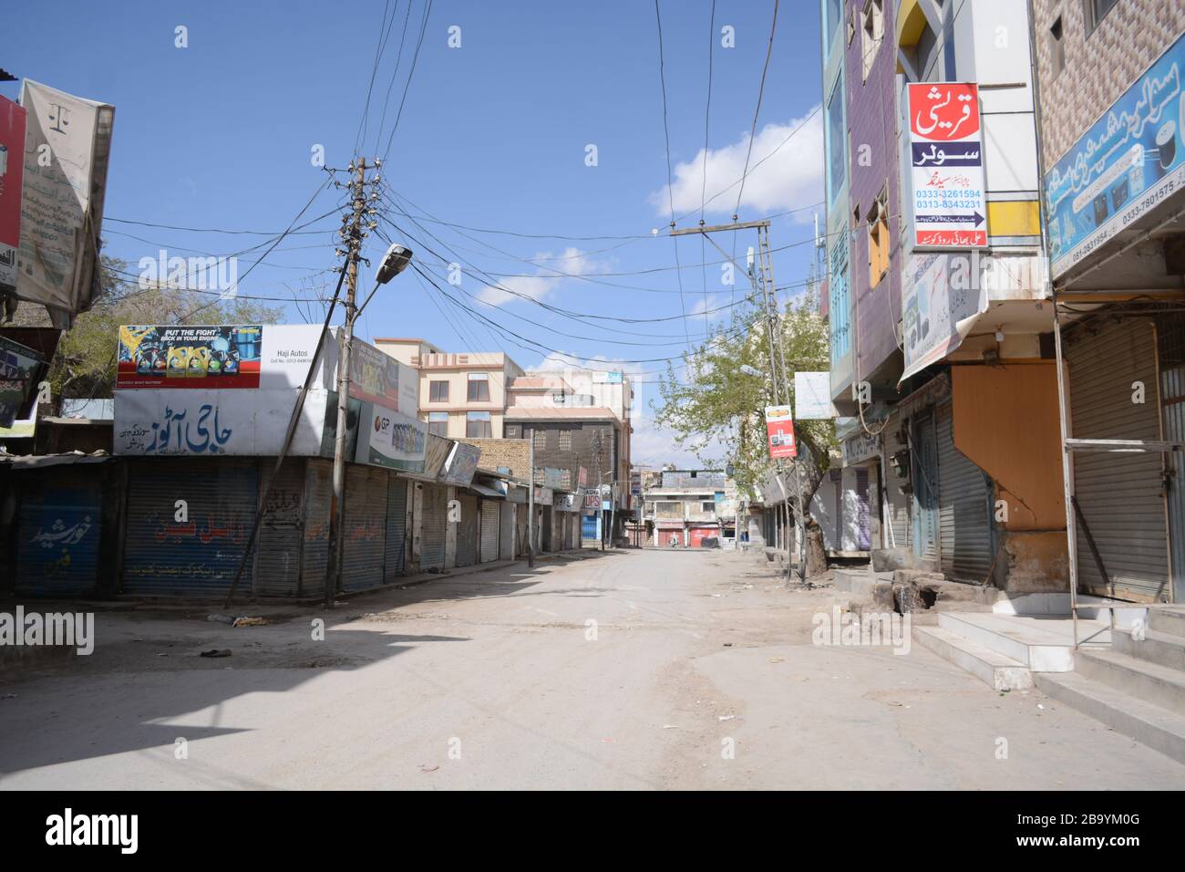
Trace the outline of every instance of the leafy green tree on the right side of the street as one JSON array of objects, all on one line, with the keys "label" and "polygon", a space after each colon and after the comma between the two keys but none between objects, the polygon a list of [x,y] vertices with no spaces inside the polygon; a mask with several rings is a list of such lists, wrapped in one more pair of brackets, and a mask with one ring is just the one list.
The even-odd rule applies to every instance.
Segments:
[{"label": "leafy green tree on the right side of the street", "polygon": [[[796,300],[786,304],[779,317],[782,349],[790,371],[783,386],[783,399],[794,403],[793,373],[818,371],[830,365],[827,322],[819,316],[816,297],[808,288]],[[731,463],[738,490],[752,492],[775,470],[769,458],[764,407],[773,402],[773,378],[767,340],[767,320],[755,301],[738,306],[732,322],[715,327],[707,340],[687,357],[686,383],[668,364],[659,384],[661,403],[654,405],[655,421],[674,433],[675,441],[690,448],[707,467]],[[761,377],[745,375],[742,367],[752,367]],[[802,511],[807,528],[807,575],[827,569],[822,529],[811,516],[811,499],[835,447],[832,421],[795,421],[799,444],[796,463],[802,476],[802,502],[798,505],[794,473],[786,475],[787,492],[795,511]],[[716,457],[724,445],[728,457]]]}]

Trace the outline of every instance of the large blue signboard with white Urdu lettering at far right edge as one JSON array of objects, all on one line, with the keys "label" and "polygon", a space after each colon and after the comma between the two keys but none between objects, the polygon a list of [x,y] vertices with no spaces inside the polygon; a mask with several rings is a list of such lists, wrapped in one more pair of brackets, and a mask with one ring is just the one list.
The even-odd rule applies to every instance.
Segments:
[{"label": "large blue signboard with white Urdu lettering at far right edge", "polygon": [[1055,279],[1185,185],[1181,66],[1185,36],[1045,174]]}]

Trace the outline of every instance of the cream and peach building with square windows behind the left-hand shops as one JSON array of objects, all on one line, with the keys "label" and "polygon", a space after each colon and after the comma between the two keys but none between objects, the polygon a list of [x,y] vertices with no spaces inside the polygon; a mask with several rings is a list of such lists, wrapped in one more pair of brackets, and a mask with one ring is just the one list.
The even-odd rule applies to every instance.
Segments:
[{"label": "cream and peach building with square windows behind the left-hand shops", "polygon": [[376,338],[374,345],[419,371],[419,418],[449,439],[498,439],[507,387],[523,368],[502,352],[442,351],[424,339]]}]

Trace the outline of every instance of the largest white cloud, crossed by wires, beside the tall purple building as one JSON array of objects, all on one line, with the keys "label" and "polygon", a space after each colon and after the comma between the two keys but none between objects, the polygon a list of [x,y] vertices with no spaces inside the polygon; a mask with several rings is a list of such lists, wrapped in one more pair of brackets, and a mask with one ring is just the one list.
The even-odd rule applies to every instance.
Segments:
[{"label": "largest white cloud, crossed by wires, beside the tall purple building", "polygon": [[[790,136],[790,133],[799,127],[802,129]],[[744,173],[748,151],[748,131],[732,145],[707,149],[706,197],[711,198],[724,191],[707,204],[707,214],[732,215],[737,202],[737,183]],[[761,163],[770,154],[771,157]],[[768,214],[818,203],[822,199],[822,170],[821,112],[802,119],[792,119],[784,125],[766,125],[754,139],[741,206]],[[698,214],[704,190],[704,149],[700,148],[691,160],[674,166],[672,173],[674,182],[671,191],[675,212]],[[666,185],[652,193],[649,201],[659,215],[670,215]],[[799,219],[809,222],[811,212],[800,212]]]}]

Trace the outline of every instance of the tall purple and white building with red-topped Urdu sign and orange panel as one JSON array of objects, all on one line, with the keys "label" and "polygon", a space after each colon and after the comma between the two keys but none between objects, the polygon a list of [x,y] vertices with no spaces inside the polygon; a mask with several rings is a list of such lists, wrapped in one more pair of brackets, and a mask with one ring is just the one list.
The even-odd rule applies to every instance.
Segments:
[{"label": "tall purple and white building with red-topped Urdu sign and orange panel", "polygon": [[846,202],[827,192],[832,397],[852,416],[833,476],[832,522],[854,534],[840,550],[1064,584],[1027,1],[822,8],[825,81],[846,93],[845,142],[828,123],[826,154],[837,183],[847,158]]}]

